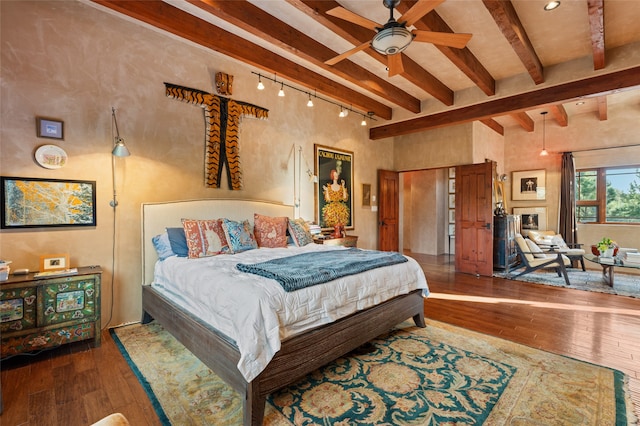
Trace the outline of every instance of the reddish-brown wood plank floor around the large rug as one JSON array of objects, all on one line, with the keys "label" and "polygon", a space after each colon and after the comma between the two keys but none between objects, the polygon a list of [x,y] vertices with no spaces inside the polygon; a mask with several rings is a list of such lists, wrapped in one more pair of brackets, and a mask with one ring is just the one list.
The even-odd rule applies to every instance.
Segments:
[{"label": "reddish-brown wood plank floor around the large rug", "polygon": [[[449,256],[414,255],[431,295],[428,318],[618,369],[640,415],[640,299],[453,272]],[[89,425],[123,413],[160,424],[108,332],[85,343],[2,363],[2,426]]]}]

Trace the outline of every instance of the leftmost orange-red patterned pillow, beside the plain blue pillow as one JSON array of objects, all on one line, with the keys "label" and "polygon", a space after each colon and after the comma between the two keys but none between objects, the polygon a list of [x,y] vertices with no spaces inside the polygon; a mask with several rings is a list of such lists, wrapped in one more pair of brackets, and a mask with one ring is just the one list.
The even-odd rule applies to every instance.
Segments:
[{"label": "leftmost orange-red patterned pillow, beside the plain blue pillow", "polygon": [[187,239],[190,259],[216,256],[229,251],[220,219],[182,219],[182,227]]}]

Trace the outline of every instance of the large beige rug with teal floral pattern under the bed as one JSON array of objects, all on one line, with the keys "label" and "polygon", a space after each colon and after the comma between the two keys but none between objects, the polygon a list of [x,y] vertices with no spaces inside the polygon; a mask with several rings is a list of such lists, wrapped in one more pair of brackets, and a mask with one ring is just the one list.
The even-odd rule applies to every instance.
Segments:
[{"label": "large beige rug with teal floral pattern under the bed", "polygon": [[[242,399],[159,324],[111,330],[165,425],[241,425]],[[635,424],[626,376],[427,320],[267,400],[267,425]]]}]

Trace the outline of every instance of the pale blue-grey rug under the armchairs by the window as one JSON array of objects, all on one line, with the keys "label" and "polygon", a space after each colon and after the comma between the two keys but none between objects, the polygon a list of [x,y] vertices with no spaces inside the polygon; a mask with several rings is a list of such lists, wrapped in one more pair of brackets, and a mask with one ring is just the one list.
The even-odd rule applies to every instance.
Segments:
[{"label": "pale blue-grey rug under the armchairs by the window", "polygon": [[[520,270],[521,271],[521,270]],[[554,287],[574,288],[584,291],[597,291],[600,293],[618,294],[620,296],[640,297],[640,275],[625,274],[623,268],[614,269],[613,287],[606,284],[602,279],[601,270],[570,268],[567,269],[570,286],[559,277],[554,271],[538,270],[513,278],[519,270],[511,270],[507,276],[504,272],[494,272],[493,276],[500,278],[510,278],[516,281],[526,281],[530,283],[546,284]]]}]

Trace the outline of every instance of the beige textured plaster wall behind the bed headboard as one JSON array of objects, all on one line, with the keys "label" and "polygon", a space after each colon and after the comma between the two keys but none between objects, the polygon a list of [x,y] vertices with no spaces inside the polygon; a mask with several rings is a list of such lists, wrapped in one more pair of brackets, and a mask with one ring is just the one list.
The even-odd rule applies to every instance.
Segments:
[{"label": "beige textured plaster wall behind the bed headboard", "polygon": [[[375,248],[377,216],[361,207],[362,183],[377,191],[377,169],[392,169],[393,143],[368,140],[368,128],[353,114],[338,119],[336,107],[307,108],[302,93],[276,96],[259,71],[218,53],[180,41],[129,19],[75,1],[0,2],[2,106],[0,173],[5,176],[83,179],[97,182],[95,228],[2,230],[0,258],[37,270],[44,253],[69,253],[72,265],[103,267],[103,324],[140,317],[140,204],[193,198],[250,198],[293,204],[293,147],[301,146],[313,170],[313,145],[354,152],[354,214],[359,245]],[[241,161],[244,190],[203,185],[202,109],[165,97],[163,82],[214,92],[214,75],[235,76],[233,98],[270,110],[268,120],[244,118]],[[111,186],[111,107],[132,155],[116,159],[119,207],[112,267],[114,211]],[[40,139],[35,117],[64,121],[65,139]],[[47,170],[34,150],[56,143],[68,165]],[[297,148],[296,148],[297,153]],[[297,158],[297,154],[295,155]],[[304,163],[304,160],[303,160]],[[306,166],[305,166],[306,170]],[[314,185],[303,173],[301,216],[313,219]],[[112,272],[115,285],[112,288]]]}]

